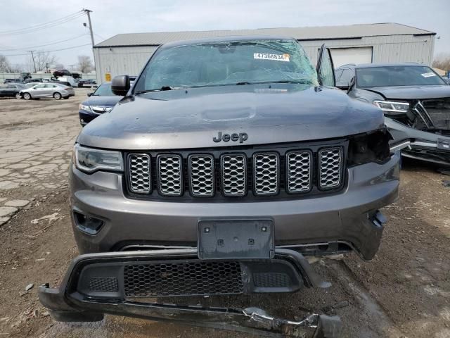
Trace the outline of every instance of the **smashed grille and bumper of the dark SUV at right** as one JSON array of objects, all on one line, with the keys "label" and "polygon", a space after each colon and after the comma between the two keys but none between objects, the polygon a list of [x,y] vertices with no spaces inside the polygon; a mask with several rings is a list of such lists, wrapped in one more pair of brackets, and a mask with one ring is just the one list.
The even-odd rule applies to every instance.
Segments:
[{"label": "smashed grille and bumper of the dark SUV at right", "polygon": [[405,157],[450,165],[450,98],[409,102],[405,113],[386,113],[394,140],[391,148]]}]

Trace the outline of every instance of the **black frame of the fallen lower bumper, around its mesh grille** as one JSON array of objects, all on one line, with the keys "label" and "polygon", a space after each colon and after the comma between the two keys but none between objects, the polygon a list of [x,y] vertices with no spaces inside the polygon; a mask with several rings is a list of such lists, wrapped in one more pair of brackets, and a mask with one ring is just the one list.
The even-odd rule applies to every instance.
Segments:
[{"label": "black frame of the fallen lower bumper, around its mesh grille", "polygon": [[[178,306],[166,303],[145,303],[129,299],[124,292],[124,270],[115,270],[117,265],[134,264],[136,261],[189,260],[195,258],[194,250],[162,250],[94,253],[79,256],[72,261],[63,283],[57,289],[48,284],[39,287],[39,300],[58,321],[98,321],[103,314],[125,315],[150,320],[176,321],[185,325],[235,330],[265,337],[338,337],[340,320],[338,317],[311,314],[302,320],[274,318],[260,308],[203,308],[201,306]],[[307,261],[295,251],[279,249],[274,259],[285,261],[295,267],[309,286],[327,287],[309,267]],[[272,260],[264,260],[271,264]],[[167,263],[169,264],[169,263]],[[91,271],[86,274],[87,271]],[[92,275],[97,274],[97,277]],[[85,277],[117,277],[117,292],[91,292],[86,289]],[[242,275],[243,281],[252,279],[251,274]],[[173,282],[168,273],[159,276]],[[195,276],[196,279],[197,276]],[[193,276],[191,275],[191,278]],[[188,281],[186,281],[188,282]],[[98,285],[98,284],[97,284]],[[111,291],[111,290],[110,290]],[[114,291],[114,290],[113,290]]]}]

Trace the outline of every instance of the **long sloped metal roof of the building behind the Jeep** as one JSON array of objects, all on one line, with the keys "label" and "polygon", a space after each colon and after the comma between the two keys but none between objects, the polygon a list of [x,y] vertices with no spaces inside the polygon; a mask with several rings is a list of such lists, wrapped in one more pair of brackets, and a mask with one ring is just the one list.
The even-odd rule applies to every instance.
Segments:
[{"label": "long sloped metal roof of the building behind the Jeep", "polygon": [[223,37],[231,35],[276,35],[294,37],[297,40],[351,39],[379,35],[435,35],[435,32],[420,30],[399,23],[372,23],[365,25],[259,28],[256,30],[203,30],[191,32],[128,33],[110,37],[96,47],[113,46],[159,46],[167,42]]}]

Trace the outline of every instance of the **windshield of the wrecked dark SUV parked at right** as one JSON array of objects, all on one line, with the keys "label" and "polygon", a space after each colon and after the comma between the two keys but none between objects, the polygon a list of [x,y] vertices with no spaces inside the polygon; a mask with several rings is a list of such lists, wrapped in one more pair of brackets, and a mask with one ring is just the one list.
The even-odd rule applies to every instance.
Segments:
[{"label": "windshield of the wrecked dark SUV parked at right", "polygon": [[445,83],[441,77],[425,65],[356,68],[356,85],[359,88],[442,84]]}]

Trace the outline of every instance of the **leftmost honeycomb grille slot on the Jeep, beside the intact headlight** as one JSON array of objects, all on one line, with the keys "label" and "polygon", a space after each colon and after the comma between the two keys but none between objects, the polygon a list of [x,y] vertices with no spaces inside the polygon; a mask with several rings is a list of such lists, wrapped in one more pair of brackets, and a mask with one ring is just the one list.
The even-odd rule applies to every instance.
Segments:
[{"label": "leftmost honeycomb grille slot on the Jeep, beside the intact headlight", "polygon": [[129,163],[129,189],[136,194],[150,194],[151,165],[147,154],[130,154]]}]

